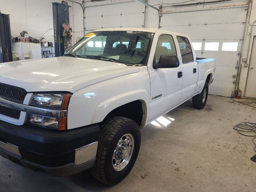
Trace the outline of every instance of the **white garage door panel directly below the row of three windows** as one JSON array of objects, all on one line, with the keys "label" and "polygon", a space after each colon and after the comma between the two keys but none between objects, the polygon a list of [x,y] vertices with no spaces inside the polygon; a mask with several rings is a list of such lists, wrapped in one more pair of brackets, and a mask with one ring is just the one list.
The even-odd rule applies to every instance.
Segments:
[{"label": "white garage door panel directly below the row of three windows", "polygon": [[216,66],[236,67],[239,56],[236,53],[196,53],[196,57],[214,58]]}]

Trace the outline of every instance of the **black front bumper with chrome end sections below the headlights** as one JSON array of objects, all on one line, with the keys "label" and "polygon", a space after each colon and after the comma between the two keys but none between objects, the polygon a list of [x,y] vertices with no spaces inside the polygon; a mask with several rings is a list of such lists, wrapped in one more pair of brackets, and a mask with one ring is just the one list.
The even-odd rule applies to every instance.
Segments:
[{"label": "black front bumper with chrome end sections below the headlights", "polygon": [[53,176],[67,176],[93,166],[99,135],[97,124],[56,131],[0,121],[0,155]]}]

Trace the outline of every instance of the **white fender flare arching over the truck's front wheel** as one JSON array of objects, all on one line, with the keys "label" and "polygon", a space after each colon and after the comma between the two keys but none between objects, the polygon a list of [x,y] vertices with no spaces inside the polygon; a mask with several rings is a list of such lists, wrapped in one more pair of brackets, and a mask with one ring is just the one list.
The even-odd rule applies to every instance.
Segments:
[{"label": "white fender flare arching over the truck's front wheel", "polygon": [[94,111],[91,124],[102,122],[112,110],[135,100],[141,101],[143,116],[140,127],[144,127],[149,115],[149,95],[143,89],[124,92],[102,101]]}]

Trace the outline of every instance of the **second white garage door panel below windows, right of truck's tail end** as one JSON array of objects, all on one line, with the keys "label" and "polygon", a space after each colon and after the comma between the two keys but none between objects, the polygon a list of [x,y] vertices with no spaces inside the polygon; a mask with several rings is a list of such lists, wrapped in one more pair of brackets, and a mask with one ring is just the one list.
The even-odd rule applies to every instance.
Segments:
[{"label": "second white garage door panel below windows, right of truck's tail end", "polygon": [[233,82],[233,75],[236,75],[236,72],[234,67],[216,66],[214,80]]}]

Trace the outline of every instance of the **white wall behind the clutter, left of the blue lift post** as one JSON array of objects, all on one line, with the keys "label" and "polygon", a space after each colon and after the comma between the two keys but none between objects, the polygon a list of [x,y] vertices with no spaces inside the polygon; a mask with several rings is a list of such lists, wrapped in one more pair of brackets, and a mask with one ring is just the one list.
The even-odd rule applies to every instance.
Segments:
[{"label": "white wall behind the clutter, left of the blue lift post", "polygon": [[0,0],[0,11],[10,14],[13,37],[20,36],[24,30],[29,36],[39,39],[50,29],[44,34],[44,41],[54,42],[52,2],[61,3],[61,0]]}]

